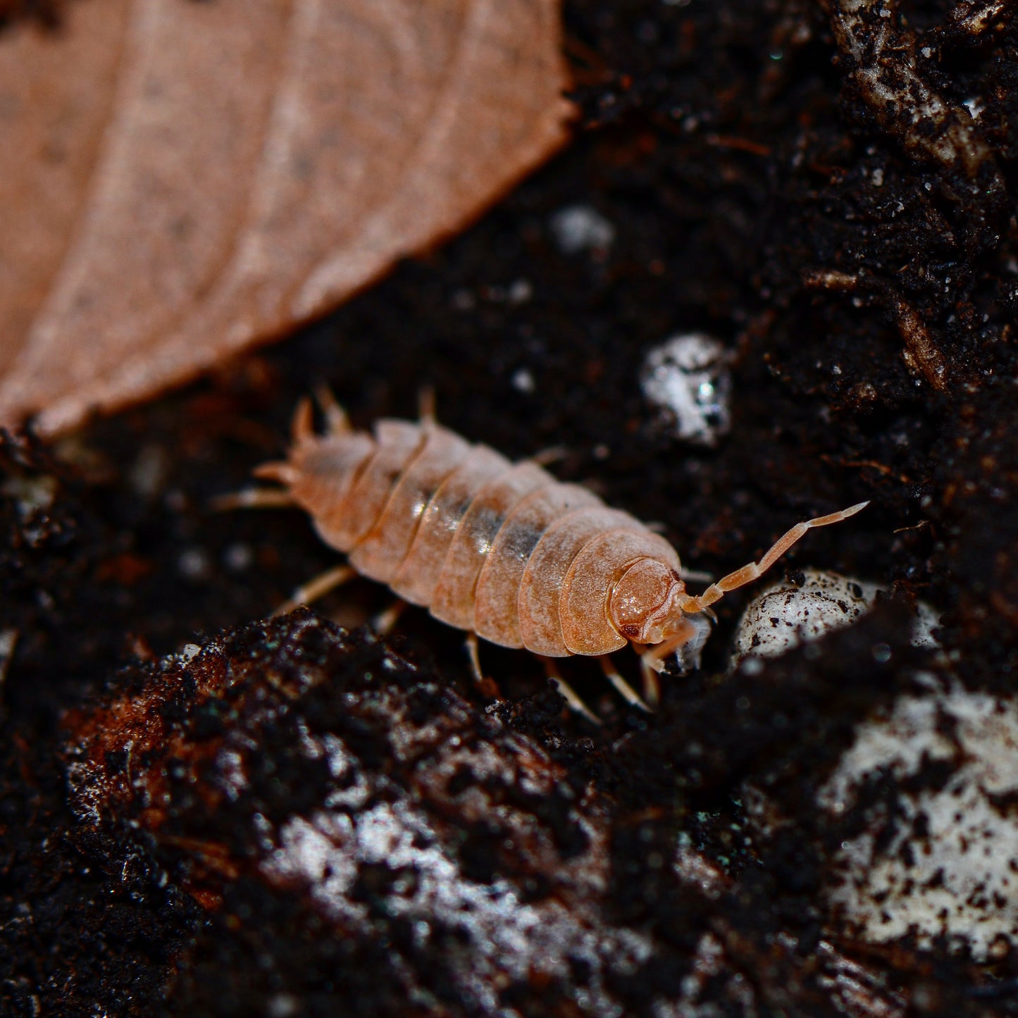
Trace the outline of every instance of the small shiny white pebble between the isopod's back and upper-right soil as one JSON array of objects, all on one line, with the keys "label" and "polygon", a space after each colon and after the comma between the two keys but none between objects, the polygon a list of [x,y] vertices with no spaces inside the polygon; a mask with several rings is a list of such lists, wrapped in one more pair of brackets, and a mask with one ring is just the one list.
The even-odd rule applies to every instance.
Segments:
[{"label": "small shiny white pebble between the isopod's back and upper-right soil", "polygon": [[715,446],[731,423],[732,378],[725,345],[701,332],[672,336],[643,361],[640,387],[676,438]]}]

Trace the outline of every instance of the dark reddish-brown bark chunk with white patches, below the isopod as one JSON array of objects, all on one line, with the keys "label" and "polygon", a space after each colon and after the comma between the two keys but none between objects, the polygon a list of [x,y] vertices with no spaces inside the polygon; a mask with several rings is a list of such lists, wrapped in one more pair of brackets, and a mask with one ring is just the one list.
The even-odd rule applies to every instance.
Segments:
[{"label": "dark reddish-brown bark chunk with white patches, below the isopod", "polygon": [[545,727],[564,706],[479,710],[300,609],[129,666],[68,714],[69,838],[118,881],[165,867],[207,910],[173,1014],[904,1014],[836,946],[769,935],[676,840],[674,784],[632,811],[614,752]]}]

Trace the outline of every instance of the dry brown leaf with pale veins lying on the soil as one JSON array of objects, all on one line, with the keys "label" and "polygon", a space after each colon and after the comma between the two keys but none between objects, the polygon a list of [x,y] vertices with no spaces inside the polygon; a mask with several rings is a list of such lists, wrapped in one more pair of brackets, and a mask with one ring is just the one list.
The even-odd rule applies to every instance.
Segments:
[{"label": "dry brown leaf with pale veins lying on the soil", "polygon": [[0,422],[321,315],[565,139],[556,0],[89,0],[0,37]]}]

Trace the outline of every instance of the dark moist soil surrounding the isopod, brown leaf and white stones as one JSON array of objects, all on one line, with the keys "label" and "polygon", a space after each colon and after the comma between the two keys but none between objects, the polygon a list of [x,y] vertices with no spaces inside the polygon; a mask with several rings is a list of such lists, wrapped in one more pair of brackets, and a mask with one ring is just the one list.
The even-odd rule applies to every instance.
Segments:
[{"label": "dark moist soil surrounding the isopod, brown leaf and white stones", "polygon": [[[846,27],[835,0],[570,0],[575,143],[471,230],[183,392],[55,448],[5,444],[0,625],[16,642],[0,735],[0,1013],[496,1013],[463,988],[477,942],[439,936],[428,915],[415,939],[386,867],[358,873],[359,924],[266,876],[287,817],[336,791],[301,732],[343,740],[373,803],[432,816],[459,878],[564,903],[598,936],[645,938],[628,966],[577,957],[551,982],[493,983],[503,1009],[1018,1013],[1008,952],[979,966],[839,929],[817,888],[840,832],[811,807],[853,725],[932,667],[908,646],[914,599],[944,613],[965,685],[1010,692],[1018,668],[1018,20],[1007,2],[952,6],[873,5]],[[867,67],[894,97],[884,106]],[[922,89],[948,112],[917,137]],[[966,103],[977,119],[960,119]],[[931,155],[958,124],[967,147]],[[607,218],[610,246],[556,246],[550,219],[572,205]],[[652,346],[693,330],[734,358],[732,429],[713,450],[656,428],[638,384]],[[521,370],[532,388],[514,383]],[[787,567],[893,597],[818,649],[723,681],[751,593],[727,598],[701,671],[666,679],[649,720],[569,662],[600,729],[561,713],[527,655],[485,645],[501,700],[486,714],[458,631],[416,610],[387,641],[356,629],[388,604],[369,582],[316,606],[345,629],[254,622],[337,556],[298,512],[209,502],[281,454],[294,404],[323,381],[358,426],[414,416],[433,386],[443,422],[470,440],[514,457],[562,446],[558,476],[663,521],[684,562],[715,575],[798,519],[871,499]],[[206,647],[193,666],[157,660],[187,643]],[[400,664],[383,675],[387,655]],[[469,770],[451,789],[429,784],[442,740],[399,757],[391,717],[356,699],[370,675],[383,699],[416,704],[414,730],[455,717],[485,753],[531,754],[536,790]],[[354,702],[341,695],[356,705],[338,711]],[[162,743],[134,745],[153,732]],[[237,799],[224,746],[258,775]],[[93,784],[69,794],[82,759]],[[474,778],[484,794],[461,801]],[[747,830],[747,778],[791,829]],[[677,842],[709,881],[663,863]],[[605,886],[584,892],[576,860],[593,845]]]}]

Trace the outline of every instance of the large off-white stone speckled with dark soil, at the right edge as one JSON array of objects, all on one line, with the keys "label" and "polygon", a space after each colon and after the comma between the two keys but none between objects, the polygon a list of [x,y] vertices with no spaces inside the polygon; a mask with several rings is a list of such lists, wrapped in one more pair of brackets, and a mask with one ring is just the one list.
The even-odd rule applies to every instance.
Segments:
[{"label": "large off-white stone speckled with dark soil, at the right edge", "polygon": [[1018,946],[1018,703],[928,681],[859,728],[819,793],[838,817],[867,779],[896,779],[842,843],[827,898],[865,940],[943,937],[985,961]]}]

